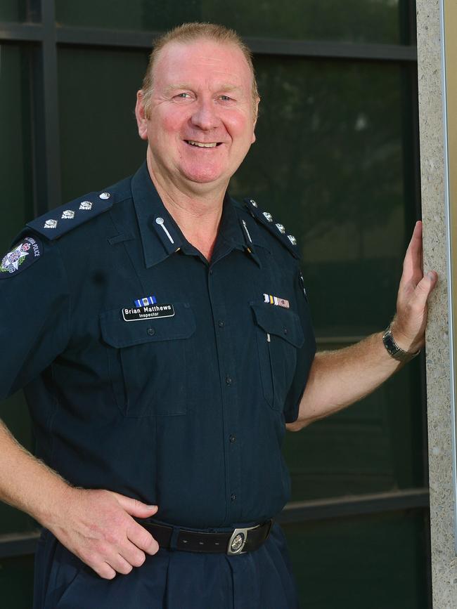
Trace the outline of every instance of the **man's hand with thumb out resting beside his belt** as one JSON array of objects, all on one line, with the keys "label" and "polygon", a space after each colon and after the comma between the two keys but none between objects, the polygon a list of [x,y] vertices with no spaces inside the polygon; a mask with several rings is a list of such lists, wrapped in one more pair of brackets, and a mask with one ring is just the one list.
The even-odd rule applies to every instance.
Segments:
[{"label": "man's hand with thumb out resting beside his belt", "polygon": [[129,573],[155,554],[154,537],[132,518],[150,518],[157,506],[148,506],[109,490],[65,489],[64,509],[45,523],[53,535],[100,577],[112,579]]}]

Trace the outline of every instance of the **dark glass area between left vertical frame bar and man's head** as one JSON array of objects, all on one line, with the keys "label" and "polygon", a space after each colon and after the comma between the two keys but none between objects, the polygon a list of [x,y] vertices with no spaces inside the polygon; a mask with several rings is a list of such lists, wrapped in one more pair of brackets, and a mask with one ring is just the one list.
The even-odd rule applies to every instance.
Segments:
[{"label": "dark glass area between left vertical frame bar and man's head", "polygon": [[63,201],[128,176],[145,159],[134,108],[147,59],[138,52],[60,49]]}]

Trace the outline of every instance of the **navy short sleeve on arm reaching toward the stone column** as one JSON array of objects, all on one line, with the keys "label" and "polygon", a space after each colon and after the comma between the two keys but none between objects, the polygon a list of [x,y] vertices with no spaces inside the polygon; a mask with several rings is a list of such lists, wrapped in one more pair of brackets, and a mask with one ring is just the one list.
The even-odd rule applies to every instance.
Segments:
[{"label": "navy short sleeve on arm reaching toward the stone column", "polygon": [[297,266],[294,282],[295,299],[297,302],[297,312],[302,324],[304,342],[302,347],[297,350],[297,365],[295,375],[288,391],[284,405],[284,419],[286,423],[293,423],[297,420],[300,401],[306,387],[309,369],[316,353],[316,339],[311,323],[311,312],[309,310],[308,298],[304,289],[303,275]]}]

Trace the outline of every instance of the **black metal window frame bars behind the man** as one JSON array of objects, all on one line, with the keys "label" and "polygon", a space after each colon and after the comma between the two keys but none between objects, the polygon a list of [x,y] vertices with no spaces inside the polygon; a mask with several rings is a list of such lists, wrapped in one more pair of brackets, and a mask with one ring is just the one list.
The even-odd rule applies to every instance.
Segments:
[{"label": "black metal window frame bars behind the man", "polygon": [[[55,0],[27,0],[27,22],[0,22],[0,44],[22,44],[32,49],[32,157],[34,183],[34,212],[43,214],[61,203],[60,197],[60,145],[58,121],[57,53],[61,46],[86,48],[125,48],[148,51],[151,41],[159,32],[103,30],[89,27],[67,27],[56,24]],[[281,39],[246,38],[245,42],[255,55],[292,56],[300,58],[356,60],[397,63],[407,67],[411,87],[411,120],[409,124],[413,143],[411,164],[416,176],[413,193],[416,216],[420,217],[420,171],[418,145],[417,49],[416,11],[413,0],[408,2],[404,15],[402,40],[405,44],[346,44],[331,41],[292,41]],[[358,337],[337,337],[326,342],[353,342]],[[421,391],[423,420],[425,410],[425,376]],[[424,433],[426,443],[426,426]],[[424,460],[427,450],[424,450]],[[427,466],[425,463],[425,473]],[[341,518],[392,510],[421,509],[428,523],[427,480],[424,488],[398,490],[311,502],[291,503],[278,519],[282,523]],[[427,529],[427,526],[425,527]],[[37,533],[0,536],[0,557],[30,554],[34,551]],[[428,561],[430,563],[430,542]],[[430,571],[430,568],[429,568]],[[429,582],[429,589],[431,583]],[[431,606],[431,603],[430,603]]]}]

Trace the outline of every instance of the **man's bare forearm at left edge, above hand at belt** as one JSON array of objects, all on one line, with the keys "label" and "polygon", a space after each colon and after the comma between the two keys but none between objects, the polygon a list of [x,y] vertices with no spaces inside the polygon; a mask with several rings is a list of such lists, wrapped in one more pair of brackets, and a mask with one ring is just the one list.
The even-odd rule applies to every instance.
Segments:
[{"label": "man's bare forearm at left edge, above hand at belt", "polygon": [[68,485],[25,450],[0,420],[0,500],[49,525]]}]

